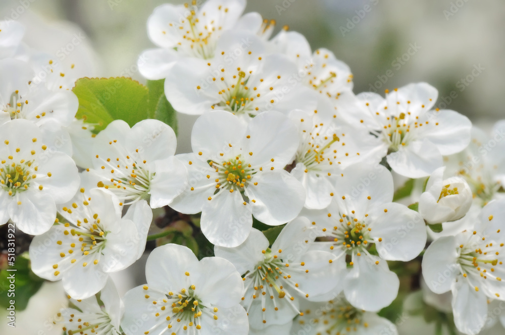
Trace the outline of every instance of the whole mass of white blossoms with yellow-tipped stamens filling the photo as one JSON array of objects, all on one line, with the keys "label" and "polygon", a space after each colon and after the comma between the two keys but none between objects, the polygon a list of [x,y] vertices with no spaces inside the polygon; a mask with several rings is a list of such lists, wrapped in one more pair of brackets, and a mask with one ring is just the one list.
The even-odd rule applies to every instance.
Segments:
[{"label": "whole mass of white blossoms with yellow-tipped stamens filling the photo", "polygon": [[[162,5],[147,21],[157,48],[140,73],[199,116],[177,154],[154,111],[100,119],[73,72],[0,22],[0,224],[35,235],[32,271],[72,303],[64,331],[397,334],[377,313],[410,282],[450,294],[452,333],[485,329],[505,301],[505,146],[483,149],[468,118],[433,109],[427,83],[356,95],[330,50],[272,36],[245,5]],[[161,207],[187,239],[151,225]],[[147,240],[146,283],[121,298],[111,274]]]}]

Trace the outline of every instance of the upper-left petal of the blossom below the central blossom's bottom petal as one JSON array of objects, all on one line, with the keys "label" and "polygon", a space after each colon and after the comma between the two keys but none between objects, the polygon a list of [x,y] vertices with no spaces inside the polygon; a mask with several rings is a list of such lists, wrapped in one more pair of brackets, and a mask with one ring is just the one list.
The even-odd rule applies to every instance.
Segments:
[{"label": "upper-left petal of the blossom below the central blossom's bottom petal", "polygon": [[262,251],[267,250],[268,246],[269,243],[265,235],[253,228],[242,244],[234,248],[215,246],[214,254],[229,260],[242,275],[247,271],[254,270],[257,264],[265,258]]}]

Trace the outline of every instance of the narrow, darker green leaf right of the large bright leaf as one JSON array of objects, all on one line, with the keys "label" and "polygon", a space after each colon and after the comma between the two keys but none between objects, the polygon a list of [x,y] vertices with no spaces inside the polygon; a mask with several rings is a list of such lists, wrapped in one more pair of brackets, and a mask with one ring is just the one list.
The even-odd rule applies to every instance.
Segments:
[{"label": "narrow, darker green leaf right of the large bright leaf", "polygon": [[177,134],[177,114],[165,96],[164,83],[165,79],[147,81],[149,90],[148,115],[150,119],[166,123]]}]

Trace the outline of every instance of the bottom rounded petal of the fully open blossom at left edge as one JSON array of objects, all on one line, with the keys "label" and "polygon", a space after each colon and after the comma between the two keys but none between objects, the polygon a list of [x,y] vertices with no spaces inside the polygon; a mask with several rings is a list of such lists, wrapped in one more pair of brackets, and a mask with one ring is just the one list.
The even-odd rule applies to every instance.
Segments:
[{"label": "bottom rounded petal of the fully open blossom at left edge", "polygon": [[3,208],[2,211],[9,212],[12,221],[22,232],[40,235],[55,223],[55,201],[47,194],[38,189],[28,190],[19,194],[18,201],[11,201],[7,210]]}]

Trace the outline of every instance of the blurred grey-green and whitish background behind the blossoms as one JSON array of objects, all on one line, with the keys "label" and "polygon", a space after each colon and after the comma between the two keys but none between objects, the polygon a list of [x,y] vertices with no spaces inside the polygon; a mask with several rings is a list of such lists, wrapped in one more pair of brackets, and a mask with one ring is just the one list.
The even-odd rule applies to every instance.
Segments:
[{"label": "blurred grey-green and whitish background behind the blossoms", "polygon": [[[58,55],[72,44],[72,58],[79,58],[87,75],[131,76],[143,83],[137,57],[154,47],[146,21],[156,6],[167,2],[184,3],[1,0],[0,20],[23,23],[24,41],[33,48]],[[288,25],[304,34],[313,49],[333,51],[354,73],[355,93],[383,94],[386,88],[426,81],[439,90],[436,106],[457,110],[478,126],[488,129],[505,118],[500,102],[505,78],[501,0],[249,0],[250,11],[275,20],[276,32]],[[179,119],[179,129],[192,120]],[[115,276],[121,294],[135,282],[143,283],[142,260],[136,265]],[[18,314],[18,328],[2,322],[0,334],[61,335],[55,313],[65,304],[60,283],[44,284]]]}]

